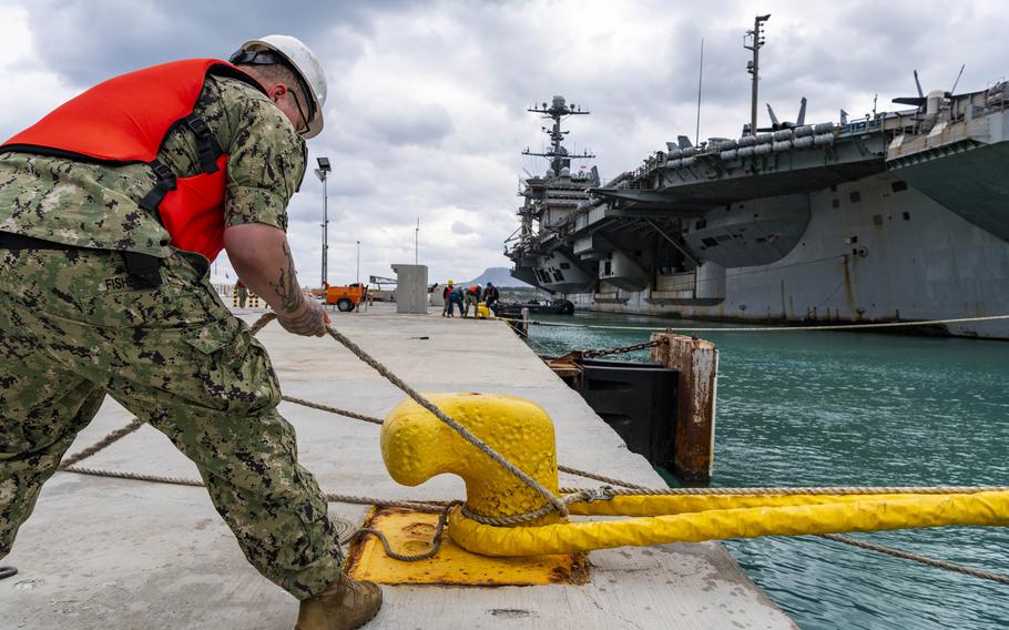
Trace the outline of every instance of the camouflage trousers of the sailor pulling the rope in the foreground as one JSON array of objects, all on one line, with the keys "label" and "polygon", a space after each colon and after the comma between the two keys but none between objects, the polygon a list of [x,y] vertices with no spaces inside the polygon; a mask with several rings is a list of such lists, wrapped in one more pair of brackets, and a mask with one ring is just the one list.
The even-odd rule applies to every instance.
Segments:
[{"label": "camouflage trousers of the sailor pulling the rope in the foreground", "polygon": [[263,346],[176,253],[134,288],[123,257],[0,251],[0,559],[105,395],[196,464],[256,569],[298,599],[339,573],[327,504],[297,463]]}]

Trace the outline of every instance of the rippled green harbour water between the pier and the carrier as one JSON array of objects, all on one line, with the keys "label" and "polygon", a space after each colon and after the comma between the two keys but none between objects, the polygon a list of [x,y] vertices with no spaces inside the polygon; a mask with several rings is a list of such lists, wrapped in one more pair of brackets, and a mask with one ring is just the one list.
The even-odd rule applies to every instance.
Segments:
[{"label": "rippled green harbour water between the pier and the carrier", "polygon": [[[578,314],[579,324],[682,321]],[[711,327],[710,323],[696,323]],[[1009,343],[868,333],[703,333],[720,349],[714,486],[1009,486]],[[532,326],[537,352],[649,333]],[[646,353],[624,355],[644,360]],[[1009,575],[1009,528],[855,537]],[[1009,587],[816,537],[731,540],[804,630],[1009,628]]]}]

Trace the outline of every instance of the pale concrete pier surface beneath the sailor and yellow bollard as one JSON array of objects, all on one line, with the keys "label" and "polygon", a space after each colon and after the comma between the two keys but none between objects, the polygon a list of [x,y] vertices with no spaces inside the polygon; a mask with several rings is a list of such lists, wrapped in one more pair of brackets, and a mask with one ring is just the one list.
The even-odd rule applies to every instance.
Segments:
[{"label": "pale concrete pier surface beneath the sailor and yellow bollard", "polygon": [[[663,481],[582,398],[501,322],[447,319],[440,309],[396,315],[335,313],[334,324],[422,392],[512,394],[541,405],[557,427],[561,464],[632,482]],[[262,312],[245,311],[253,322]],[[404,395],[329,338],[300,338],[271,324],[269,349],[284,393],[383,417]],[[297,429],[302,463],[329,492],[383,498],[451,499],[462,484],[447,476],[419,488],[393,481],[378,427],[283,404]],[[75,453],[131,416],[106,399],[78,437]],[[195,467],[159,431],[139,431],[82,465],[196,479]],[[598,484],[561,475],[561,486]],[[366,507],[330,504],[363,519]],[[368,628],[794,628],[718,543],[594,551],[584,586],[384,587],[386,604]],[[58,472],[45,486],[4,565],[0,628],[293,628],[294,598],[243,558],[202,488]]]}]

